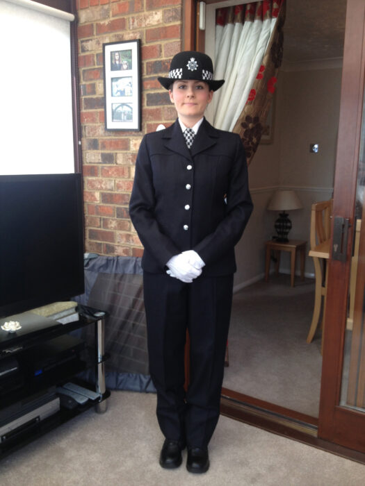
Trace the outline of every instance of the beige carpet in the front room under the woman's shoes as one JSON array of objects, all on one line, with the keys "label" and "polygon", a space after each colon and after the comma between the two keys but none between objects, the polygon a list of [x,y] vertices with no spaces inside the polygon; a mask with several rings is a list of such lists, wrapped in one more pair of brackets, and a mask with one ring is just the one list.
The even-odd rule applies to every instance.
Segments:
[{"label": "beige carpet in the front room under the woman's shoes", "polygon": [[[158,464],[162,437],[154,394],[112,392],[106,414],[94,410],[0,462],[1,486],[363,486],[365,466],[220,417],[211,468]],[[184,453],[184,459],[186,453]]]}]

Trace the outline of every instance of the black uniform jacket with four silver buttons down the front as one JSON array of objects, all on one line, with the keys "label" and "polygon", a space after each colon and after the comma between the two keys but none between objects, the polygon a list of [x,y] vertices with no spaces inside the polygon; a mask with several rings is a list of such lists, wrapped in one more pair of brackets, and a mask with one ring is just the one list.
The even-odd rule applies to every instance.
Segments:
[{"label": "black uniform jacket with four silver buttons down the front", "polygon": [[189,150],[179,121],[143,137],[129,214],[145,247],[142,267],[165,272],[181,251],[195,250],[205,276],[236,271],[234,245],[252,212],[245,152],[236,133],[204,119]]}]

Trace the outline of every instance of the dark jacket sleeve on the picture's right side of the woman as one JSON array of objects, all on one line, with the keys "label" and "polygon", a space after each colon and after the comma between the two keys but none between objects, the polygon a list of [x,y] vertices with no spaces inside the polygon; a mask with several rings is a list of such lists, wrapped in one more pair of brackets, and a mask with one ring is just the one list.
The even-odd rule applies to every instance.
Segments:
[{"label": "dark jacket sleeve on the picture's right side of the woman", "polygon": [[253,204],[248,189],[248,167],[240,137],[236,136],[236,151],[229,174],[227,211],[213,233],[206,235],[194,248],[206,265],[233,249],[241,239]]}]

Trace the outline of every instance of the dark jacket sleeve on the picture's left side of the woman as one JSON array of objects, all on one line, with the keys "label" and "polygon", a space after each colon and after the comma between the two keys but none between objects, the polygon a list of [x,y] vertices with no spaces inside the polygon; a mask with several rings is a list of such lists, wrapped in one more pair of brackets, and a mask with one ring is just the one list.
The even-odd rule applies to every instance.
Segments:
[{"label": "dark jacket sleeve on the picture's left side of the woman", "polygon": [[136,160],[136,173],[129,203],[129,215],[145,249],[154,255],[163,268],[166,262],[180,253],[168,236],[161,232],[154,217],[155,196],[147,137],[143,137]]}]

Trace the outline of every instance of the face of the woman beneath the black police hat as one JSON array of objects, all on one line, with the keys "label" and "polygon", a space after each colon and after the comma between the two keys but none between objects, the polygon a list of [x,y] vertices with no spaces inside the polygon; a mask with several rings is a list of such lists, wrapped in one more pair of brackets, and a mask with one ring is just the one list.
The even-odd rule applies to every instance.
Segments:
[{"label": "face of the woman beneath the black police hat", "polygon": [[189,128],[204,116],[205,108],[213,98],[213,91],[204,81],[178,80],[168,92],[179,118]]}]

